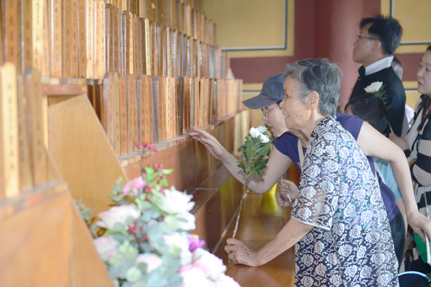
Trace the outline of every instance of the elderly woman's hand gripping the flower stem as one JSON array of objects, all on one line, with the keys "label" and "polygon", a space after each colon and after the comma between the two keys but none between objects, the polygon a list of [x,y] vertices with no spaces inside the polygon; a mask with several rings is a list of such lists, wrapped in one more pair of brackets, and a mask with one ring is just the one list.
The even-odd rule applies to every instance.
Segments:
[{"label": "elderly woman's hand gripping the flower stem", "polygon": [[226,243],[227,245],[224,247],[224,251],[228,253],[228,258],[239,264],[259,266],[257,260],[258,251],[251,245],[235,238],[228,238]]}]

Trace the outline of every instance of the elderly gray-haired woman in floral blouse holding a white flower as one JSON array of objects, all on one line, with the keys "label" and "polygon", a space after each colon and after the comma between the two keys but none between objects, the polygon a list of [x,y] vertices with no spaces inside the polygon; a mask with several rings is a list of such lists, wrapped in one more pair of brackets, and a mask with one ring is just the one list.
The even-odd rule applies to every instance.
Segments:
[{"label": "elderly gray-haired woman in floral blouse holding a white flower", "polygon": [[259,251],[229,238],[228,257],[259,266],[295,245],[295,286],[398,286],[378,184],[361,147],[336,121],[339,67],[306,59],[286,72],[286,127],[309,137],[291,220]]}]

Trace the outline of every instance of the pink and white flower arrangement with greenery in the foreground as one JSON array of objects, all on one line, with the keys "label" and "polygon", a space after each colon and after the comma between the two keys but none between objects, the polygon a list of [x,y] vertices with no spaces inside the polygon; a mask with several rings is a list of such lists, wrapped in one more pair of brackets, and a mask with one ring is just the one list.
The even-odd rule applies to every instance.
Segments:
[{"label": "pink and white flower arrangement with greenery in the foreground", "polygon": [[[203,249],[205,241],[187,232],[196,228],[194,202],[192,195],[166,188],[171,172],[154,164],[112,188],[114,206],[90,226],[94,236],[94,228],[101,228],[94,245],[109,277],[123,287],[238,287],[224,274],[222,260]],[[88,223],[88,208],[78,207]]]}]

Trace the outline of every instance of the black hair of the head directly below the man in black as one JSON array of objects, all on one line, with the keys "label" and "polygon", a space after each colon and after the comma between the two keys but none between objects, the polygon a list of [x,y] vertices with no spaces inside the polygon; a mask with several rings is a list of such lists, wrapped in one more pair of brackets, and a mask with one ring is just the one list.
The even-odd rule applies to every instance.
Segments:
[{"label": "black hair of the head directly below the man in black", "polygon": [[372,94],[365,94],[350,99],[345,105],[345,110],[348,107],[350,107],[352,114],[367,121],[383,134],[389,122],[389,114],[381,99]]}]

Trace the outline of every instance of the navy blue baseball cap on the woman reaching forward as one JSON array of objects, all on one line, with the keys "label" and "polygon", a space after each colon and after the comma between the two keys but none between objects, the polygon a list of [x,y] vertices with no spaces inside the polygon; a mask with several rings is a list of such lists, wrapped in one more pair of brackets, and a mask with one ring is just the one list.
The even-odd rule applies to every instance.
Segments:
[{"label": "navy blue baseball cap on the woman reaching forward", "polygon": [[259,110],[272,105],[277,101],[283,101],[285,98],[285,92],[283,87],[285,86],[285,79],[287,73],[279,73],[269,77],[262,86],[261,93],[256,97],[246,99],[242,101],[247,108],[252,110]]}]

